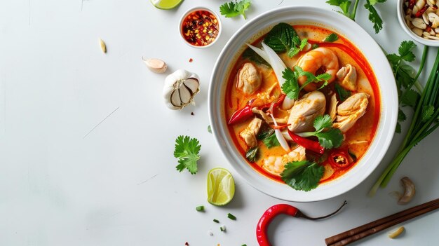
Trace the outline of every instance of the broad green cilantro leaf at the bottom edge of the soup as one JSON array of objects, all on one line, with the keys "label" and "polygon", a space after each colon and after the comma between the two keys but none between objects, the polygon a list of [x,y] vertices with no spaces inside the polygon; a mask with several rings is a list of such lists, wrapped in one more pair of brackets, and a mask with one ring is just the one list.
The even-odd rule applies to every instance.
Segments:
[{"label": "broad green cilantro leaf at the bottom edge of the soup", "polygon": [[297,191],[311,191],[318,186],[325,168],[307,160],[293,161],[285,165],[281,179]]}]

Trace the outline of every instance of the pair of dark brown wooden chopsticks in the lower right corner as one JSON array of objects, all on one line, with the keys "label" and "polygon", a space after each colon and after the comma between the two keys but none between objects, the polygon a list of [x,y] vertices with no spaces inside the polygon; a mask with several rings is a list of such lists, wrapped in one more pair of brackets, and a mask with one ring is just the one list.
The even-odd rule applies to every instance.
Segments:
[{"label": "pair of dark brown wooden chopsticks in the lower right corner", "polygon": [[377,219],[376,221],[372,221],[368,224],[364,224],[363,226],[358,226],[349,231],[345,231],[344,233],[333,235],[330,238],[326,238],[325,243],[326,245],[330,245],[330,246],[347,245],[351,242],[364,238],[367,235],[372,235],[373,233],[382,231],[386,228],[389,228],[403,221],[406,221],[407,219],[412,219],[421,214],[430,212],[438,208],[439,208],[439,198],[432,200],[428,203],[423,203],[421,205],[417,205],[407,210],[397,212],[396,214],[392,214],[388,217]]}]

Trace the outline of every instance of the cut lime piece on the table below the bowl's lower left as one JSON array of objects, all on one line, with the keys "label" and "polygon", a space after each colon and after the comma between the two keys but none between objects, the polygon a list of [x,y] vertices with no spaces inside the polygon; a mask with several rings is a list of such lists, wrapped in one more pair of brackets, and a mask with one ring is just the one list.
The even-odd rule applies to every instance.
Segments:
[{"label": "cut lime piece on the table below the bowl's lower left", "polygon": [[235,195],[235,182],[231,173],[224,168],[214,168],[208,173],[208,202],[223,206]]}]

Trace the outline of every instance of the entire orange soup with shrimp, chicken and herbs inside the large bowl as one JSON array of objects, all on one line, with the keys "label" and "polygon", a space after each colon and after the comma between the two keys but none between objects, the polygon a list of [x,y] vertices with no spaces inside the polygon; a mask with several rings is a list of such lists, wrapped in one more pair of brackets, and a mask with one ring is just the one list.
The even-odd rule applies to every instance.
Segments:
[{"label": "entire orange soup with shrimp, chicken and herbs inside the large bowl", "polygon": [[286,23],[248,46],[229,74],[225,104],[248,164],[302,191],[349,172],[369,148],[380,110],[360,50],[322,27]]}]

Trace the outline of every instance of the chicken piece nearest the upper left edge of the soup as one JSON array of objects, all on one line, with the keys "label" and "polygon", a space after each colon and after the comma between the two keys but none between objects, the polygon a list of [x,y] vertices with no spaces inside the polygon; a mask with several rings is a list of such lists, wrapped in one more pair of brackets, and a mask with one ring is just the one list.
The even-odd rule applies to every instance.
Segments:
[{"label": "chicken piece nearest the upper left edge of the soup", "polygon": [[261,72],[251,62],[245,62],[238,71],[236,87],[245,94],[253,94],[262,82]]}]

